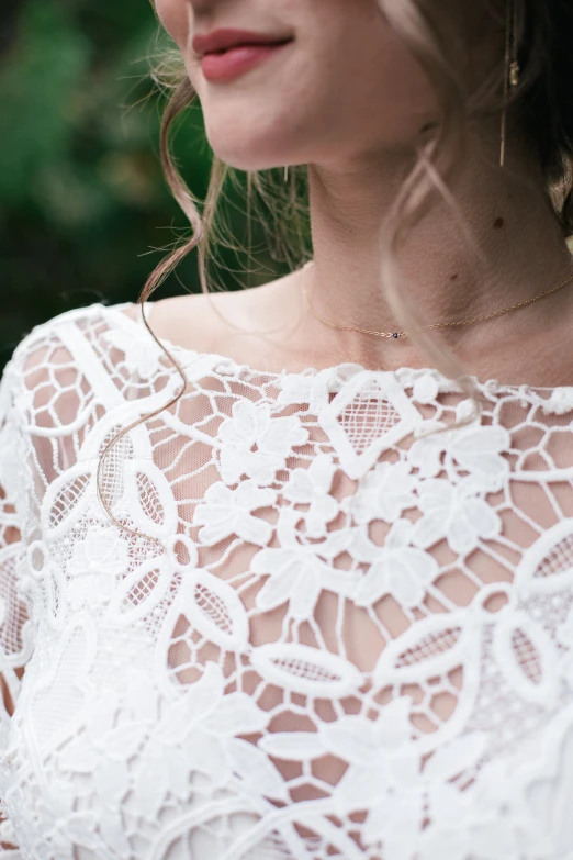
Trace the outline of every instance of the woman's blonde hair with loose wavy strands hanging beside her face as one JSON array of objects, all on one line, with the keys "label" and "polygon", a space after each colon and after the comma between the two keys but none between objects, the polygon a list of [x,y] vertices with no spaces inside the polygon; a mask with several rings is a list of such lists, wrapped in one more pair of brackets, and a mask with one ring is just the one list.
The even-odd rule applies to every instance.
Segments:
[{"label": "woman's blonde hair with loose wavy strands hanging beside her face", "polygon": [[[153,4],[154,0],[151,0]],[[492,27],[497,25],[502,37],[505,27],[505,11],[497,0],[482,0],[484,14],[488,14]],[[515,0],[517,12],[517,40],[519,60],[524,72],[516,91],[510,91],[507,101],[508,134],[518,125],[525,131],[530,146],[536,152],[547,180],[548,202],[555,212],[563,236],[573,235],[573,102],[571,80],[573,79],[573,54],[570,44],[573,37],[573,8],[560,0]],[[378,0],[386,22],[402,38],[431,82],[439,104],[435,127],[437,134],[420,145],[417,158],[404,179],[392,210],[380,233],[380,280],[384,284],[385,298],[396,322],[408,332],[425,350],[434,366],[445,376],[456,378],[462,391],[475,406],[452,426],[462,426],[473,421],[480,412],[478,393],[470,377],[463,370],[450,349],[429,331],[419,332],[424,322],[408,301],[407,290],[402,289],[398,269],[400,249],[404,237],[417,225],[434,193],[438,193],[458,215],[464,237],[476,259],[485,264],[476,241],[459,211],[454,196],[448,188],[448,178],[465,152],[468,131],[472,120],[501,113],[503,107],[503,76],[505,56],[494,65],[486,79],[475,92],[468,92],[459,57],[453,56],[447,37],[443,11],[436,0]],[[446,22],[448,23],[448,22]],[[503,48],[503,40],[501,45]],[[239,180],[238,172],[216,156],[209,181],[203,212],[200,201],[182,179],[172,155],[171,132],[176,120],[196,100],[196,93],[187,76],[179,51],[169,49],[151,70],[157,86],[169,93],[160,130],[160,160],[165,178],[181,210],[191,225],[191,235],[176,246],[162,259],[147,279],[138,303],[144,323],[177,368],[183,387],[165,406],[143,415],[128,427],[117,433],[106,445],[98,468],[98,495],[109,516],[116,525],[101,493],[103,463],[111,448],[133,427],[155,417],[172,406],[184,394],[188,380],[184,370],[161,344],[150,328],[144,313],[144,303],[164,282],[167,276],[196,248],[201,289],[210,295],[206,260],[213,248],[228,242],[225,225],[217,220],[217,204],[225,181]],[[510,166],[506,169],[510,170]],[[295,268],[311,256],[308,246],[307,168],[291,169],[289,183],[283,185],[282,170],[265,170],[247,174],[247,200],[249,213],[257,209],[260,222],[269,235],[269,243],[276,257],[282,257],[290,268]],[[280,212],[280,217],[273,214]],[[229,321],[226,321],[231,324]],[[416,333],[417,332],[417,333]],[[439,432],[439,431],[438,431]],[[125,526],[121,526],[125,528]],[[126,529],[131,532],[132,529]],[[133,534],[139,534],[133,532]]]}]

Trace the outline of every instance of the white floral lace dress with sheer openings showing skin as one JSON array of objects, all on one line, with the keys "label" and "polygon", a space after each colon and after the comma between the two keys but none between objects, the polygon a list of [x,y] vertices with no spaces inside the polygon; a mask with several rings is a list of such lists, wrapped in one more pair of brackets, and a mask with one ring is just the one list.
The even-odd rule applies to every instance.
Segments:
[{"label": "white floral lace dress with sheer openings showing skin", "polygon": [[133,310],[0,389],[3,856],[572,860],[573,387],[422,438],[436,371],[176,347],[104,472],[135,537],[100,454],[181,381]]}]

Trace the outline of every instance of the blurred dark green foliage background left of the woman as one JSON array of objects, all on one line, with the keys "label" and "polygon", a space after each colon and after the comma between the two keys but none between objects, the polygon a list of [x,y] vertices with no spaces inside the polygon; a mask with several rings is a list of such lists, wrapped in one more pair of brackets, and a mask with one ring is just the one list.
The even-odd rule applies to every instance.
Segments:
[{"label": "blurred dark green foliage background left of the woman", "polygon": [[[136,301],[154,267],[189,232],[159,165],[166,98],[149,56],[172,46],[148,0],[2,0],[0,23],[0,368],[37,323],[94,302]],[[173,145],[203,200],[210,170],[193,105]],[[284,273],[239,188],[226,194],[237,243],[266,271]],[[248,234],[248,235],[247,235]],[[217,286],[236,289],[241,260],[222,250]],[[225,271],[225,267],[229,271]],[[218,272],[218,268],[217,268]],[[154,299],[200,290],[192,253]]]}]

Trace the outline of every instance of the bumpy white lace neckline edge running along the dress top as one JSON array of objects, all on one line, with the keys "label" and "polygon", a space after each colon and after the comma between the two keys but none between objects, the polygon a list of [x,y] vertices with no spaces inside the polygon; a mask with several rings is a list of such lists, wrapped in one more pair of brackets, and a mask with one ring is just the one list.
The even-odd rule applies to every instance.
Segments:
[{"label": "bumpy white lace neckline edge running along the dress top", "polygon": [[[154,302],[145,302],[145,310],[146,310],[146,317],[148,321],[150,321],[150,312],[149,308],[151,308],[153,311],[153,304]],[[114,306],[108,306],[108,311],[117,311],[121,313],[121,317],[123,320],[127,321],[127,324],[130,326],[133,326],[133,328],[141,335],[142,332],[144,332],[147,335],[147,330],[145,328],[142,319],[141,319],[141,312],[136,320],[132,319],[128,314],[122,313],[124,309],[127,308],[134,308],[137,306],[136,302],[123,302],[121,304],[116,304]],[[153,324],[153,321],[150,321]],[[260,368],[255,368],[249,364],[245,364],[241,361],[237,361],[231,356],[225,356],[222,353],[214,353],[209,351],[204,353],[198,349],[192,349],[191,347],[184,347],[180,346],[179,344],[173,343],[172,340],[169,340],[167,337],[159,337],[158,338],[161,344],[172,351],[173,354],[178,354],[181,357],[189,357],[190,359],[196,359],[201,356],[210,356],[211,358],[217,359],[221,361],[221,364],[226,365],[227,367],[232,368],[234,371],[243,371],[244,373],[247,373],[249,377],[256,377],[256,378],[265,378],[268,380],[281,380],[284,379],[284,377],[291,377],[291,378],[315,378],[321,376],[327,376],[329,378],[339,377],[344,379],[346,376],[355,376],[359,372],[364,373],[371,373],[372,376],[375,376],[377,373],[381,372],[392,372],[394,376],[405,386],[414,386],[418,380],[425,378],[425,377],[431,377],[434,380],[438,383],[441,391],[460,391],[459,386],[457,384],[456,380],[450,379],[449,377],[441,373],[436,368],[431,367],[420,367],[420,368],[413,368],[413,367],[400,367],[394,369],[393,371],[389,371],[385,368],[380,369],[372,369],[367,368],[363,365],[356,362],[356,361],[340,361],[336,365],[330,365],[326,368],[317,369],[315,367],[308,366],[302,370],[289,370],[288,368],[283,368],[280,371],[273,371],[273,370],[261,370]],[[499,382],[495,378],[490,378],[486,380],[480,380],[473,373],[468,373],[467,378],[472,381],[472,383],[475,386],[475,388],[481,392],[488,392],[490,394],[499,392],[499,391],[506,391],[506,392],[516,392],[521,395],[530,394],[540,394],[543,393],[551,397],[555,392],[564,392],[568,391],[568,393],[571,394],[572,399],[572,405],[573,405],[573,384],[572,386],[531,386],[529,383],[518,383],[518,382]]]}]

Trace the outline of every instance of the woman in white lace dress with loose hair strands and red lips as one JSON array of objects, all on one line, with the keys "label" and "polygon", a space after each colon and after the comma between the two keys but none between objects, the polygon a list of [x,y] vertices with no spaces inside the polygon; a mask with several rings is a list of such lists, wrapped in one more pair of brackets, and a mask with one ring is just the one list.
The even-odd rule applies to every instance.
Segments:
[{"label": "woman in white lace dress with loose hair strands and red lips", "polygon": [[[571,860],[573,11],[156,5],[192,239],[2,381],[4,853]],[[221,164],[312,261],[147,302]]]}]

